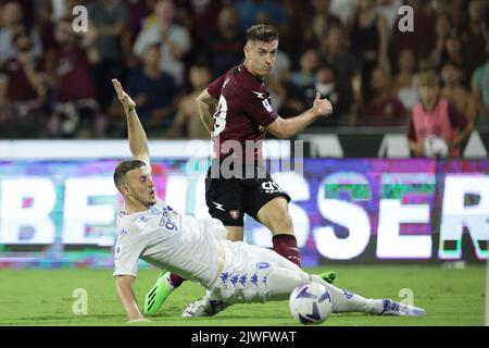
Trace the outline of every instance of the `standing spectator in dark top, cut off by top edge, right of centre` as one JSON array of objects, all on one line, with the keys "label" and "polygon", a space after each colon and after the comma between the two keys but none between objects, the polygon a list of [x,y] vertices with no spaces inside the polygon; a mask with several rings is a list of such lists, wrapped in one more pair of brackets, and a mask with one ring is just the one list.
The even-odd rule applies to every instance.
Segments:
[{"label": "standing spectator in dark top, cut off by top edge, right of centre", "polygon": [[368,99],[372,72],[376,67],[390,71],[387,21],[377,13],[375,0],[361,0],[349,27],[352,53],[361,62],[363,98]]}]

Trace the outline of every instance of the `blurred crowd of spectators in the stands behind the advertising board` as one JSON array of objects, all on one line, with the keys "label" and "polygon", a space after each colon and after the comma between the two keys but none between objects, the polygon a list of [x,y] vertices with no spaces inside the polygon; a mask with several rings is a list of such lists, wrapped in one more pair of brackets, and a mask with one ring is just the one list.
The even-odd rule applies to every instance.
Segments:
[{"label": "blurred crowd of spectators in the stands behind the advertising board", "polygon": [[[209,138],[195,98],[242,62],[255,23],[279,29],[268,88],[283,117],[334,105],[312,127],[405,126],[417,78],[475,126],[489,125],[485,0],[2,0],[0,137],[123,138],[111,78],[137,102],[153,138]],[[414,10],[402,33],[401,5]],[[77,5],[88,9],[87,30]],[[404,18],[405,21],[405,18]]]}]

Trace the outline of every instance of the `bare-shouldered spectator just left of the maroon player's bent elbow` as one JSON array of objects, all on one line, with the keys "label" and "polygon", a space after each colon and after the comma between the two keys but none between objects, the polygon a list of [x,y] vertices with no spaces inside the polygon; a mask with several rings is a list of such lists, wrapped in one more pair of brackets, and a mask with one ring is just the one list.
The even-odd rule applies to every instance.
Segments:
[{"label": "bare-shouldered spectator just left of the maroon player's bent elbow", "polygon": [[167,138],[209,139],[209,130],[199,117],[196,99],[211,82],[212,75],[209,66],[195,63],[190,66],[190,83],[192,91],[184,96],[179,103],[177,114],[168,130]]}]

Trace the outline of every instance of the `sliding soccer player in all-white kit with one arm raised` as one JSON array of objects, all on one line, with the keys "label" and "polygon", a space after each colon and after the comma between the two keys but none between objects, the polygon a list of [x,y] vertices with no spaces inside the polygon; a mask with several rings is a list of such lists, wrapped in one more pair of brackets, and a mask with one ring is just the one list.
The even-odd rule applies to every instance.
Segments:
[{"label": "sliding soccer player in all-white kit with one arm raised", "polygon": [[285,300],[306,282],[323,284],[333,298],[334,312],[383,315],[421,315],[421,308],[388,299],[366,299],[310,275],[273,250],[226,239],[216,219],[181,215],[155,196],[145,129],[133,99],[113,79],[124,105],[129,148],[134,159],[121,162],[114,182],[125,206],[117,214],[115,283],[129,321],[146,321],[136,300],[134,281],[138,260],[198,282],[208,291],[183,316],[213,315],[229,304]]}]

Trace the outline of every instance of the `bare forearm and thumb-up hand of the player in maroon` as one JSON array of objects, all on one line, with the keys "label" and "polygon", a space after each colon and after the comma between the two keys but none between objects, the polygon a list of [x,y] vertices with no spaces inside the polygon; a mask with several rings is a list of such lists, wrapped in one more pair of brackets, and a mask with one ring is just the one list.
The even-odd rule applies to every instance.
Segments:
[{"label": "bare forearm and thumb-up hand of the player in maroon", "polygon": [[298,116],[290,119],[281,119],[280,116],[278,116],[277,120],[275,120],[269,126],[266,127],[266,130],[268,130],[279,139],[288,139],[302,132],[318,116],[329,115],[331,113],[333,107],[329,100],[321,99],[319,94],[316,92],[316,99],[314,100],[314,104],[311,109],[304,111]]}]

